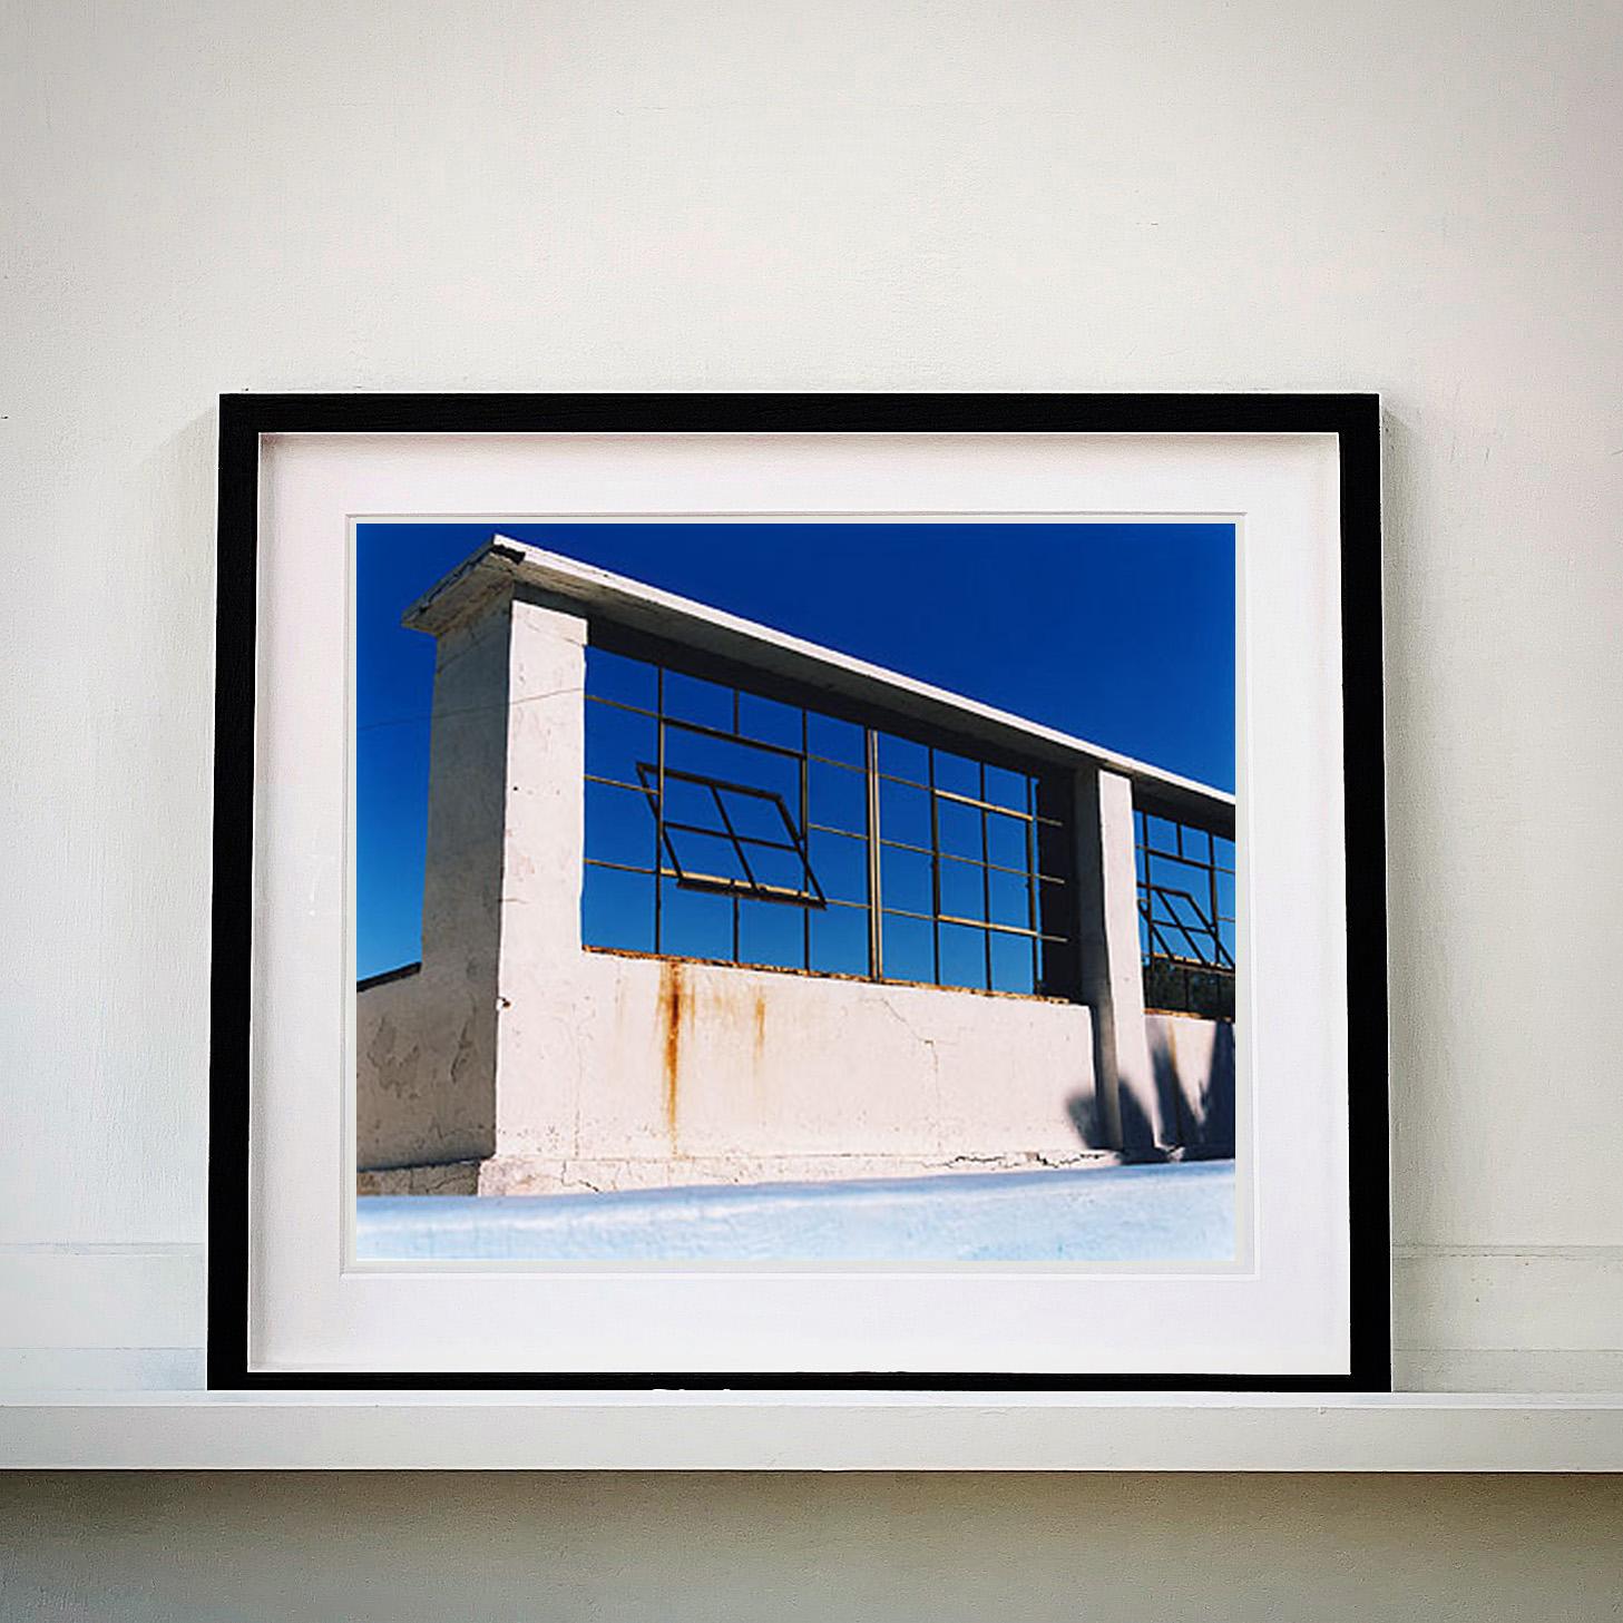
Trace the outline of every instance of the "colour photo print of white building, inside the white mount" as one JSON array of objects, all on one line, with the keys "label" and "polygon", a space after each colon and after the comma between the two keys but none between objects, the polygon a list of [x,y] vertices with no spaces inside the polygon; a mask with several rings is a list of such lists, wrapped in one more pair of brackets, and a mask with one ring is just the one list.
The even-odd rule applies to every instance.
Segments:
[{"label": "colour photo print of white building, inside the white mount", "polygon": [[1233,583],[357,524],[359,1255],[1233,1261]]}]

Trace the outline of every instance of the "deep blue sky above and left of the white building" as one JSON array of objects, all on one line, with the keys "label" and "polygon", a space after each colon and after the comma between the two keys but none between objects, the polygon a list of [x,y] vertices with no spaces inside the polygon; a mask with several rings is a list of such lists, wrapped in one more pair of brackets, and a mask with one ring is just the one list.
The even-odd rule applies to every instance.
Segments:
[{"label": "deep blue sky above and left of the white building", "polygon": [[[1233,789],[1230,524],[503,524]],[[433,639],[401,613],[487,524],[357,534],[357,972],[420,953]]]}]

